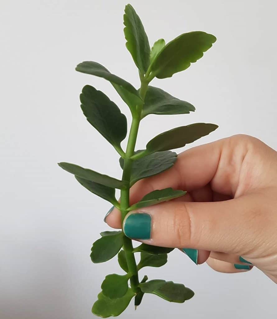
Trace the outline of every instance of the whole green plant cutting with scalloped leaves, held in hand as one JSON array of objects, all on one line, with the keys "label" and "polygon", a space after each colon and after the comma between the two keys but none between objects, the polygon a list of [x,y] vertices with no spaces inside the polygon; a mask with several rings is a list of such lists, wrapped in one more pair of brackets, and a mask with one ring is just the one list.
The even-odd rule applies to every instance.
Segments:
[{"label": "whole green plant cutting with scalloped leaves, held in hand", "polygon": [[[103,92],[91,85],[85,85],[82,89],[82,112],[120,155],[122,178],[119,180],[71,163],[59,163],[61,168],[75,175],[82,186],[117,207],[121,211],[122,222],[129,211],[184,196],[186,192],[183,190],[157,189],[130,205],[129,193],[131,186],[139,180],[174,165],[177,154],[172,149],[183,147],[217,129],[217,125],[211,123],[177,127],[153,137],[144,150],[135,150],[140,122],[147,115],[189,114],[195,111],[189,102],[151,86],[150,82],[154,78],[170,78],[174,73],[186,70],[212,47],[216,38],[209,33],[194,31],[183,33],[167,44],[164,39],[159,39],[151,48],[142,22],[130,4],[125,7],[124,26],[126,47],[138,68],[141,83],[138,90],[97,62],[85,61],[76,67],[79,72],[110,81],[130,109],[132,122],[127,147],[123,150],[121,142],[128,131],[125,115]],[[120,202],[115,197],[115,189],[120,189]],[[148,293],[179,303],[193,297],[194,292],[183,284],[156,278],[148,280],[147,276],[139,278],[143,267],[161,267],[167,263],[167,254],[174,248],[144,243],[134,248],[132,240],[123,231],[104,231],[100,235],[101,238],[91,248],[92,262],[103,263],[117,255],[124,275],[112,273],[105,277],[102,291],[92,307],[95,315],[103,318],[117,316],[132,299],[136,307],[140,305]],[[140,254],[139,263],[136,263],[135,254]]]}]

